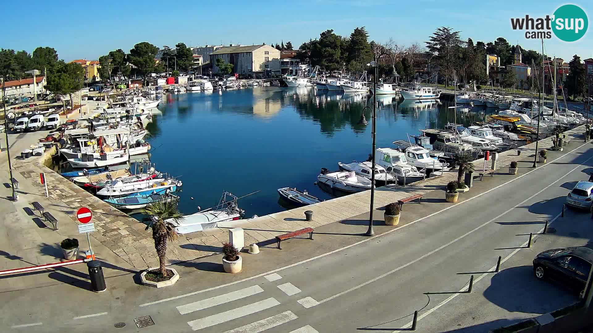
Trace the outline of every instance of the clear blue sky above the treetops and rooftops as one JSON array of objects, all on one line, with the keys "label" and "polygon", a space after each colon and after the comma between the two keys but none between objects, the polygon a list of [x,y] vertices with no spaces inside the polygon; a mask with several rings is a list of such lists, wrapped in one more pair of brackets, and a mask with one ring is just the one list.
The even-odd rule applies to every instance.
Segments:
[{"label": "clear blue sky above the treetops and rooftops", "polygon": [[[60,59],[96,60],[110,50],[126,52],[148,41],[156,46],[261,44],[292,41],[295,48],[327,29],[349,36],[365,26],[369,40],[393,38],[400,45],[423,41],[435,28],[447,26],[484,42],[504,37],[524,49],[541,50],[541,42],[511,29],[511,17],[551,15],[558,1],[447,0],[302,0],[302,1],[4,1],[0,47],[32,52],[54,47]],[[593,3],[572,2],[589,15]],[[30,25],[27,23],[31,23]],[[18,27],[18,28],[14,28]],[[591,30],[591,28],[589,28]],[[550,56],[593,56],[591,31],[573,43],[546,40]]]}]

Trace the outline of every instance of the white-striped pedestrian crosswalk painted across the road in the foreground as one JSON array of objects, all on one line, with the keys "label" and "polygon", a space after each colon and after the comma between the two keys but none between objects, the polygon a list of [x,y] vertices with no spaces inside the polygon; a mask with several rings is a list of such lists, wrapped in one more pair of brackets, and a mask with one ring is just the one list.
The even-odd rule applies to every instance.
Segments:
[{"label": "white-striped pedestrian crosswalk painted across the road in the foreground", "polygon": [[[278,274],[276,276],[269,276],[266,277],[267,281],[276,281],[279,280],[280,277]],[[298,287],[294,286],[292,283],[283,283],[276,286],[279,290],[282,290],[288,296],[292,296],[294,294],[301,293],[301,290]],[[275,288],[274,288],[275,289]],[[267,290],[270,293],[274,293],[274,289]],[[266,296],[276,296],[279,299],[283,299],[283,297],[279,297],[278,289],[275,289],[275,294],[270,294]],[[193,331],[199,331],[202,329],[210,328],[206,331],[212,332],[212,326],[217,326],[216,332],[222,332],[225,329],[232,328],[232,323],[240,322],[239,325],[245,324],[248,322],[249,324],[245,325],[237,325],[238,327],[229,329],[224,333],[241,333],[241,332],[249,332],[249,333],[259,333],[259,332],[286,332],[286,333],[319,333],[316,329],[314,329],[310,325],[305,325],[300,328],[294,329],[298,327],[298,319],[299,317],[292,312],[291,310],[286,310],[281,312],[282,310],[274,310],[280,309],[279,307],[280,302],[275,297],[267,297],[263,300],[257,300],[257,302],[251,302],[247,305],[246,302],[249,302],[249,297],[256,296],[259,299],[262,299],[266,296],[264,294],[257,296],[260,293],[263,293],[264,289],[259,285],[254,285],[250,287],[245,287],[243,289],[235,290],[233,292],[219,294],[218,296],[209,297],[207,299],[197,300],[196,302],[187,303],[184,305],[177,306],[177,310],[181,315],[188,315],[188,316],[199,316],[200,313],[203,313],[201,318],[193,319],[187,322],[187,325]],[[286,297],[286,296],[284,296]],[[309,297],[310,298],[310,297]],[[235,302],[237,301],[237,302]],[[296,300],[292,300],[295,302]],[[300,303],[300,302],[299,302]],[[237,306],[237,304],[241,304],[243,306]],[[307,308],[305,306],[305,308]],[[213,313],[213,310],[218,309],[225,309],[218,313]],[[293,308],[294,309],[294,308]],[[303,308],[301,308],[303,309]],[[270,310],[272,313],[270,313]],[[266,312],[263,312],[266,311]],[[273,312],[277,311],[274,315]],[[258,315],[257,313],[263,312],[267,314],[267,318],[263,318],[263,315]],[[262,313],[262,314],[263,314]],[[270,316],[272,315],[272,316]],[[243,319],[240,319],[243,318]],[[253,318],[253,322],[248,319]],[[235,319],[239,319],[235,321]],[[302,319],[301,319],[302,320]],[[292,324],[287,324],[289,322],[294,321]],[[225,324],[228,323],[228,324]],[[284,325],[286,324],[286,325]],[[303,323],[306,324],[306,323]],[[283,326],[280,326],[283,325]],[[302,325],[302,324],[301,324]],[[230,327],[229,327],[230,326]],[[279,327],[278,327],[279,326]],[[221,329],[222,328],[222,329]],[[274,328],[274,329],[272,329]],[[291,331],[292,329],[292,331]],[[269,331],[267,331],[269,330]]]}]

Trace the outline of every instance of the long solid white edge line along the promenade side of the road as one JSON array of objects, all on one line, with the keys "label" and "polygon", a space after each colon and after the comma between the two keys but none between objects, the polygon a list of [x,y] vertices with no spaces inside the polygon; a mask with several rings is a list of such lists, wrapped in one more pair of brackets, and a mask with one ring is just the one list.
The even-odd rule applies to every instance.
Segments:
[{"label": "long solid white edge line along the promenade side of the road", "polygon": [[[591,142],[591,141],[589,141],[589,142]],[[490,190],[487,190],[487,191],[485,191],[483,193],[477,194],[474,197],[467,198],[466,200],[460,201],[460,202],[458,202],[456,204],[452,204],[451,206],[445,207],[444,209],[441,209],[438,212],[435,212],[435,213],[432,213],[432,214],[428,214],[425,217],[420,217],[419,219],[413,220],[412,222],[407,223],[406,225],[399,226],[397,228],[393,228],[393,229],[387,230],[386,232],[381,233],[379,235],[375,235],[375,236],[372,236],[372,237],[369,237],[369,238],[365,238],[362,241],[356,242],[354,244],[346,245],[343,248],[334,249],[333,251],[330,251],[330,252],[326,252],[324,254],[317,255],[317,256],[315,256],[313,258],[308,258],[308,259],[305,259],[305,260],[302,260],[302,261],[299,261],[299,262],[295,262],[294,264],[290,264],[290,265],[287,265],[287,266],[284,266],[284,267],[276,268],[275,270],[267,271],[266,273],[261,273],[261,274],[257,274],[257,275],[251,276],[251,277],[243,278],[242,280],[237,280],[237,281],[233,281],[233,282],[221,284],[220,286],[214,286],[214,287],[210,287],[210,288],[207,288],[207,289],[197,290],[196,292],[191,292],[191,293],[181,294],[181,295],[174,296],[174,297],[169,297],[169,298],[165,298],[165,299],[155,300],[154,302],[148,302],[148,303],[141,304],[141,305],[139,305],[139,307],[149,306],[149,305],[155,305],[155,304],[162,303],[162,302],[168,302],[170,300],[176,300],[176,299],[180,299],[180,298],[187,297],[187,296],[192,296],[192,295],[196,295],[196,294],[200,294],[200,293],[209,292],[211,290],[215,290],[215,289],[219,289],[219,288],[224,288],[224,287],[232,286],[233,284],[237,284],[237,283],[242,283],[242,282],[245,282],[245,281],[253,280],[254,278],[258,278],[258,277],[262,277],[262,276],[267,276],[267,275],[270,275],[272,273],[276,273],[276,272],[279,272],[279,271],[282,271],[282,270],[286,270],[288,268],[292,268],[292,267],[295,267],[295,266],[298,266],[298,265],[305,264],[306,262],[309,262],[309,261],[313,261],[313,260],[317,260],[319,258],[327,257],[328,255],[334,254],[336,252],[340,252],[340,251],[344,251],[345,249],[349,249],[352,246],[361,245],[361,244],[366,243],[368,241],[372,241],[373,239],[375,239],[377,237],[385,236],[385,235],[388,235],[389,233],[396,232],[397,230],[399,230],[401,228],[406,228],[407,226],[411,226],[411,225],[413,225],[413,224],[415,224],[417,222],[420,222],[420,221],[423,221],[425,219],[428,219],[429,217],[435,216],[436,214],[440,214],[442,212],[445,212],[445,210],[452,209],[453,207],[457,207],[460,204],[464,204],[464,203],[467,203],[468,201],[471,201],[471,200],[473,200],[475,198],[481,197],[481,196],[483,196],[486,193],[490,193],[491,191],[494,191],[494,190],[496,190],[496,189],[498,189],[500,187],[503,187],[504,185],[511,184],[511,182],[514,182],[514,181],[516,181],[518,179],[521,179],[522,177],[525,177],[526,175],[531,174],[531,172],[534,172],[534,171],[536,171],[536,170],[538,170],[540,168],[543,168],[543,167],[547,167],[552,162],[555,162],[555,161],[557,161],[557,160],[565,157],[566,155],[569,155],[569,153],[572,153],[572,152],[576,151],[577,149],[582,148],[583,146],[587,145],[589,142],[585,142],[581,146],[576,147],[572,151],[570,151],[568,153],[565,153],[564,155],[560,156],[559,158],[553,159],[552,161],[550,161],[550,162],[548,162],[546,164],[540,165],[539,167],[534,168],[531,171],[525,172],[525,174],[522,174],[519,177],[515,177],[512,180],[509,180],[508,182],[505,182],[504,184],[500,184],[500,185],[498,185],[496,187],[490,188]]]}]

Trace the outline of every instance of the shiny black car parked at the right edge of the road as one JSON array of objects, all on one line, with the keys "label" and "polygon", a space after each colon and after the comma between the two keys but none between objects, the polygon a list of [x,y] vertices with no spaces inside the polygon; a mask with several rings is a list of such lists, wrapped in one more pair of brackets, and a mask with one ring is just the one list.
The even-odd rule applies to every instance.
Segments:
[{"label": "shiny black car parked at the right edge of the road", "polygon": [[575,289],[581,297],[593,263],[593,250],[585,247],[549,249],[533,260],[538,279],[550,278]]}]

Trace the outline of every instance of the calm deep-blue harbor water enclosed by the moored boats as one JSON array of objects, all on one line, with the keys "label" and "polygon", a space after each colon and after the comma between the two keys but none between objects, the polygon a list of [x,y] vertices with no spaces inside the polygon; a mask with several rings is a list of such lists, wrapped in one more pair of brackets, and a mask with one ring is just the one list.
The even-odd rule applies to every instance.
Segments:
[{"label": "calm deep-blue harbor water enclosed by the moored boats", "polygon": [[[215,206],[223,191],[238,197],[259,191],[238,201],[247,217],[285,210],[276,191],[281,187],[327,200],[331,195],[313,184],[320,169],[364,161],[371,153],[371,111],[365,110],[368,125],[358,121],[364,106],[372,107],[372,95],[259,87],[163,99],[147,141],[157,170],[183,180],[184,214]],[[380,96],[377,103],[378,148],[455,120],[446,102]],[[457,122],[481,121],[495,111],[474,107],[458,112]]]}]

